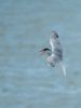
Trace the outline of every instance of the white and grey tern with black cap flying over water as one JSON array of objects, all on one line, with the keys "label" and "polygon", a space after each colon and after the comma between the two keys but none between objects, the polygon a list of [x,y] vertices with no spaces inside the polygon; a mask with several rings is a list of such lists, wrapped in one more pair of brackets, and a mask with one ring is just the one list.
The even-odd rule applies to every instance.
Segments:
[{"label": "white and grey tern with black cap flying over water", "polygon": [[63,49],[59,41],[59,36],[56,31],[52,31],[50,36],[50,45],[52,49],[44,48],[40,50],[42,54],[46,54],[46,62],[50,66],[55,67],[58,64],[62,69],[63,73],[66,77],[66,67],[63,64]]}]

